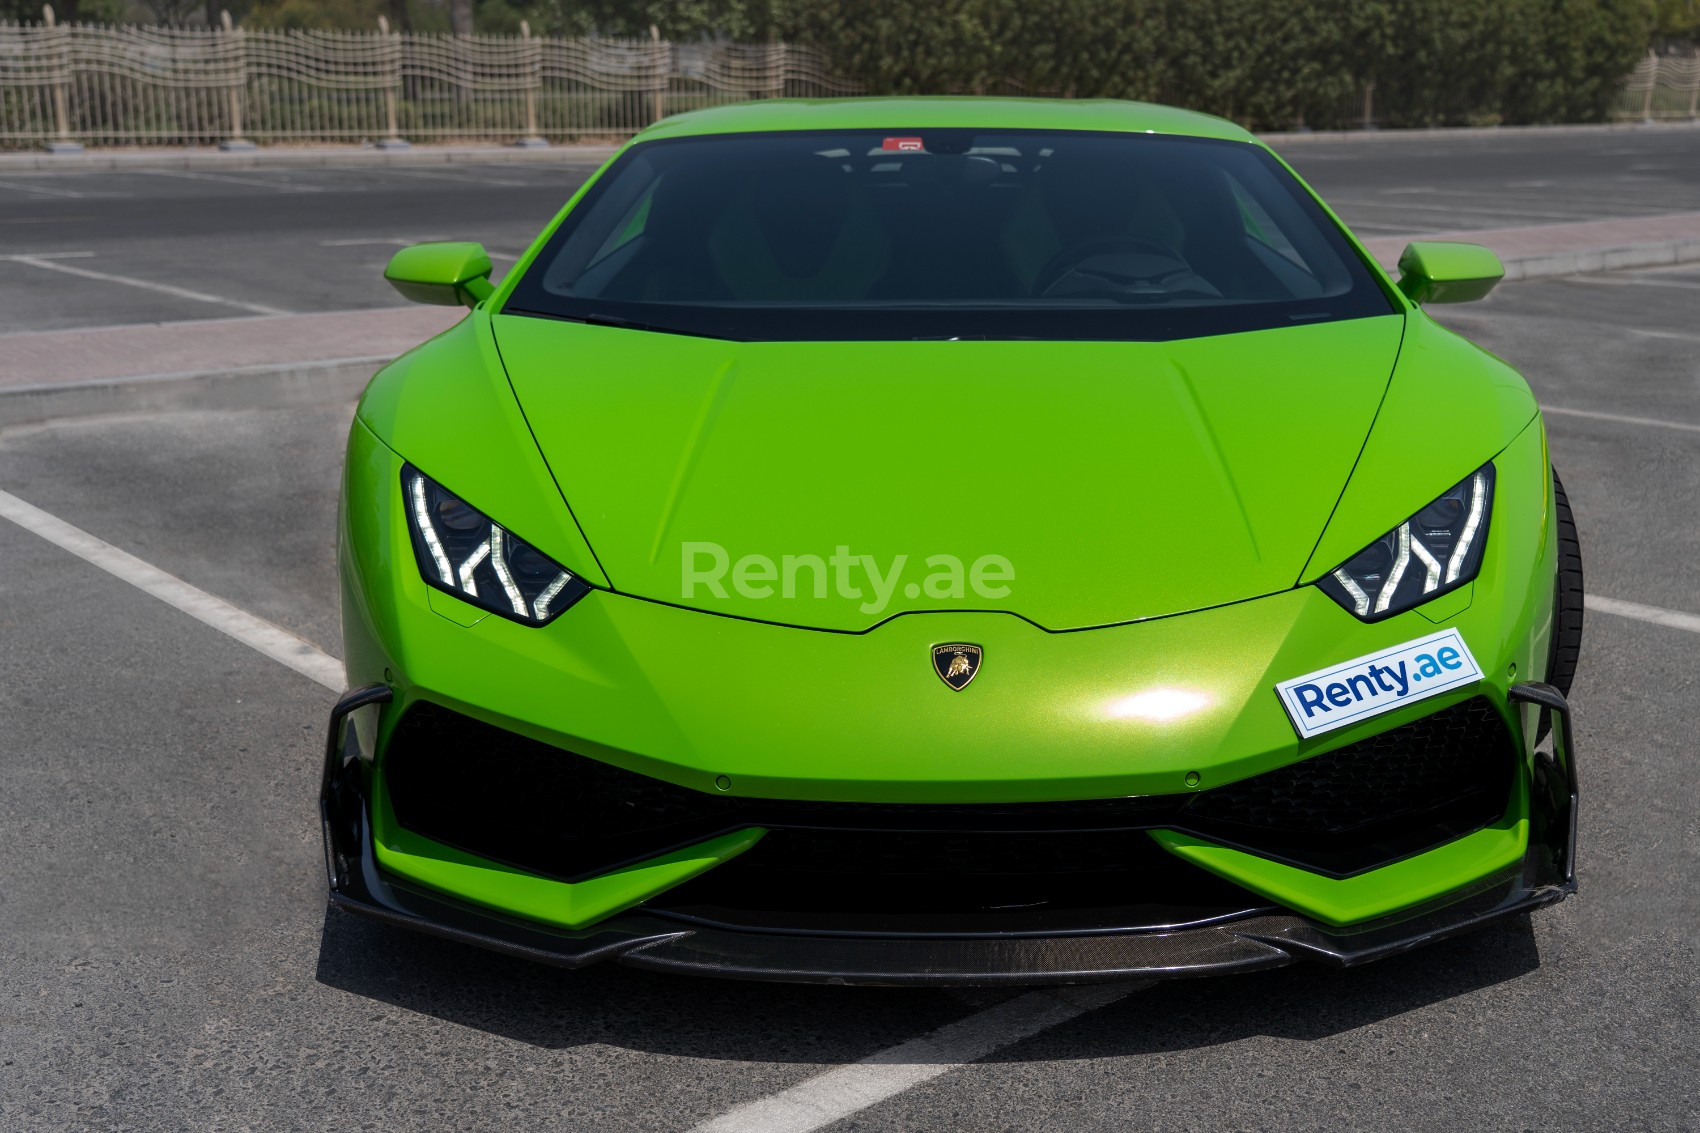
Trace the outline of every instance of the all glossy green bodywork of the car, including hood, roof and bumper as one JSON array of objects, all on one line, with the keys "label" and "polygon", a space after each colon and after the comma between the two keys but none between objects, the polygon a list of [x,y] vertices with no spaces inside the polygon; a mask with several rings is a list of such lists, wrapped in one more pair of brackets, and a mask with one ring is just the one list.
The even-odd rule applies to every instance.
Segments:
[{"label": "all glossy green bodywork of the car, including hood, roof and bumper", "polygon": [[[1046,100],[758,104],[668,119],[634,145],[894,122],[1256,145],[1180,111]],[[1511,665],[1518,679],[1544,670],[1556,553],[1533,398],[1379,267],[1397,315],[1185,344],[716,344],[493,316],[546,236],[473,315],[386,367],[350,430],[345,657],[350,684],[394,687],[386,732],[432,699],[700,791],[726,776],[751,796],[1108,798],[1187,791],[1187,772],[1197,789],[1221,786],[1476,692],[1503,708]],[[971,475],[952,475],[954,454],[972,458]],[[544,628],[427,589],[403,459],[604,589]],[[1498,487],[1476,584],[1372,626],[1295,589],[1488,459]],[[668,551],[695,538],[734,555],[848,541],[867,555],[1005,555],[1017,582],[1008,602],[974,611],[728,599],[711,614],[665,604],[668,566],[678,584]],[[1192,612],[1158,616],[1178,611]],[[1105,624],[1125,619],[1141,621]],[[1469,641],[1479,689],[1295,738],[1277,680],[1436,624]],[[1056,631],[1076,626],[1096,628]],[[954,640],[986,650],[964,692],[926,657]],[[1132,697],[1156,689],[1200,706],[1139,718]],[[381,769],[382,752],[379,781]],[[398,834],[381,847],[388,869],[532,919],[571,905],[559,883]],[[1340,888],[1163,837],[1334,924],[1467,886],[1511,845],[1482,832]],[[687,851],[646,876],[712,856]]]}]

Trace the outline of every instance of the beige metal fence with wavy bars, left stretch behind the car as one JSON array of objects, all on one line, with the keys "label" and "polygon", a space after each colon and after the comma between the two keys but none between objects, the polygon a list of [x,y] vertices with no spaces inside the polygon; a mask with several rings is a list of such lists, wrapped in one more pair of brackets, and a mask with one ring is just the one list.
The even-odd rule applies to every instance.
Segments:
[{"label": "beige metal fence with wavy bars, left stretch behind the car", "polygon": [[0,24],[0,148],[568,141],[857,92],[787,44]]}]

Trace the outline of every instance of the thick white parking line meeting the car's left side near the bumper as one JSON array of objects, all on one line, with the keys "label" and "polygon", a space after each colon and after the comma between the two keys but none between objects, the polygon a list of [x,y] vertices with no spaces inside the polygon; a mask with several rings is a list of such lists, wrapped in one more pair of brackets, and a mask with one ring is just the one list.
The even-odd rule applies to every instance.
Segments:
[{"label": "thick white parking line meeting the car's left side near the bumper", "polygon": [[342,692],[342,662],[287,629],[255,618],[224,599],[212,597],[206,590],[192,587],[151,563],[141,561],[129,551],[121,551],[82,527],[73,527],[58,515],[49,515],[34,504],[26,504],[10,492],[0,492],[0,517],[10,519],[24,531],[39,534],[48,543],[65,548],[76,558],[94,563],[114,578],[122,578],[138,590],[151,594],[167,606],[184,611],[248,648],[265,653],[277,663],[294,669],[303,677],[323,684],[332,692]]}]

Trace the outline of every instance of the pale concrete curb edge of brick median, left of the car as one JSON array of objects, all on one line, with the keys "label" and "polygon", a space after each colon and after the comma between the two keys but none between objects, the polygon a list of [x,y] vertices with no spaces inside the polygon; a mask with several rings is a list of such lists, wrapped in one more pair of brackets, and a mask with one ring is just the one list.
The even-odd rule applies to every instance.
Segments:
[{"label": "pale concrete curb edge of brick median, left of the car", "polygon": [[199,374],[97,378],[0,391],[0,429],[65,417],[354,403],[388,357],[255,366]]}]

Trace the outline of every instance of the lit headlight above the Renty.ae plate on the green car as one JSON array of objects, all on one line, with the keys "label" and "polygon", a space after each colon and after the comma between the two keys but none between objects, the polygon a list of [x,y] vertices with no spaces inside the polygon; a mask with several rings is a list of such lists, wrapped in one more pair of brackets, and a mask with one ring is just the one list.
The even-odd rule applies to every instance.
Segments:
[{"label": "lit headlight above the Renty.ae plate on the green car", "polygon": [[1363,621],[1380,621],[1476,577],[1493,512],[1493,464],[1348,558],[1316,585]]}]

